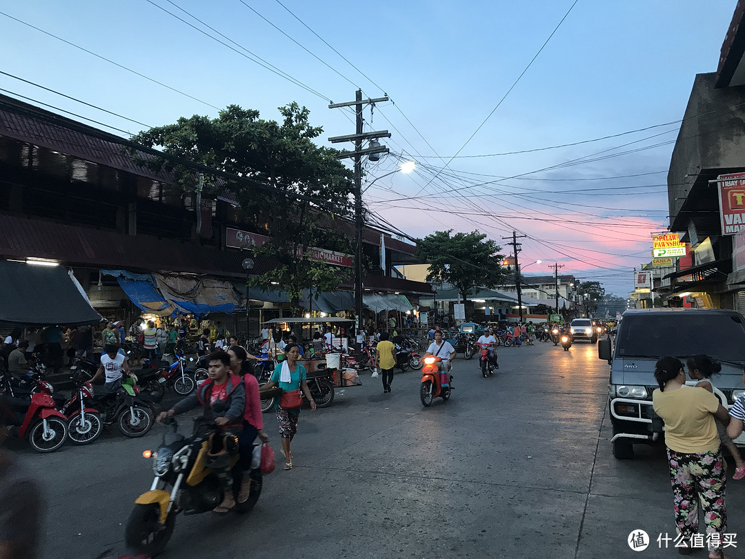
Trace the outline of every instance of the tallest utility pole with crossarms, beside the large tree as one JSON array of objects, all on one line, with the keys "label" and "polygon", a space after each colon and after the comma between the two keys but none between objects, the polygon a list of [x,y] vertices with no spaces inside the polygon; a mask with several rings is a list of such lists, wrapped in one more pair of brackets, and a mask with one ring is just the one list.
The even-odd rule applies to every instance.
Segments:
[{"label": "tallest utility pole with crossarms, beside the large tree", "polygon": [[348,134],[346,136],[334,136],[333,138],[329,138],[329,142],[332,142],[332,144],[337,144],[339,142],[355,142],[355,151],[347,151],[338,156],[340,159],[343,159],[344,157],[355,158],[355,334],[357,334],[357,332],[360,331],[360,328],[364,325],[364,323],[362,322],[362,228],[364,226],[364,222],[362,219],[362,156],[388,153],[388,148],[383,145],[362,149],[362,142],[368,139],[390,138],[390,132],[388,132],[387,130],[378,130],[375,132],[366,133],[362,132],[362,107],[365,104],[381,103],[383,101],[388,101],[387,95],[381,98],[367,98],[363,100],[362,90],[358,89],[355,95],[355,101],[329,104],[329,109],[336,109],[338,107],[352,107],[352,105],[354,105],[355,115],[357,117],[357,127],[354,134]]}]

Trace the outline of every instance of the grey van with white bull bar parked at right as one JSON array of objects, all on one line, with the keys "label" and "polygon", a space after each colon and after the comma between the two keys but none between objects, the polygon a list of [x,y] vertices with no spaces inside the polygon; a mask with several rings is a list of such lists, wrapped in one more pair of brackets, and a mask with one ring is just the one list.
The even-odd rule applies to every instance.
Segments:
[{"label": "grey van with white bull bar parked at right", "polygon": [[[745,394],[745,318],[726,309],[638,309],[624,312],[615,344],[610,338],[597,344],[597,356],[610,368],[608,406],[613,426],[613,455],[633,458],[634,444],[664,440],[662,419],[654,413],[652,393],[656,362],[673,356],[685,363],[704,354],[719,361],[714,395],[730,408]],[[745,444],[745,434],[735,439]]]}]

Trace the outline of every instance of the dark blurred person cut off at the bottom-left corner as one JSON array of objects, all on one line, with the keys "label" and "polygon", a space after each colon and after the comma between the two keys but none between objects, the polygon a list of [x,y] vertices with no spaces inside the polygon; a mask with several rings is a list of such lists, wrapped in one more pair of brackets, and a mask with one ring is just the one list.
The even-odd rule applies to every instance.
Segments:
[{"label": "dark blurred person cut off at the bottom-left corner", "polygon": [[[0,448],[13,424],[13,412],[0,396]],[[0,450],[0,558],[38,557],[43,517],[39,476]]]}]

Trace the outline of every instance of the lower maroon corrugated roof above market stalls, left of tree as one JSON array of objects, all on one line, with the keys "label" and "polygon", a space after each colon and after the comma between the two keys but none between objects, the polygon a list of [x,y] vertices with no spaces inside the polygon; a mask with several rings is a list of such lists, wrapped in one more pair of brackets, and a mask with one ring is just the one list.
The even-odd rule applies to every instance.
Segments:
[{"label": "lower maroon corrugated roof above market stalls, left of tree", "polygon": [[[59,260],[69,266],[246,277],[241,266],[245,254],[239,250],[0,215],[0,258],[29,256]],[[256,256],[254,261],[253,274],[273,269],[271,259]]]}]

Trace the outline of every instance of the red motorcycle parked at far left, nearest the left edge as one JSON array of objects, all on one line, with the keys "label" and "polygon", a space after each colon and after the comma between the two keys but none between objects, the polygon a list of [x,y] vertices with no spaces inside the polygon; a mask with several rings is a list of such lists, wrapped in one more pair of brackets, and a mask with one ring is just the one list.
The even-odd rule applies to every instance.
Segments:
[{"label": "red motorcycle parked at far left, nearest the left edge", "polygon": [[67,417],[55,409],[51,397],[51,385],[42,381],[41,392],[28,398],[6,397],[13,411],[13,428],[10,434],[27,438],[31,448],[37,452],[54,452],[67,438]]}]

